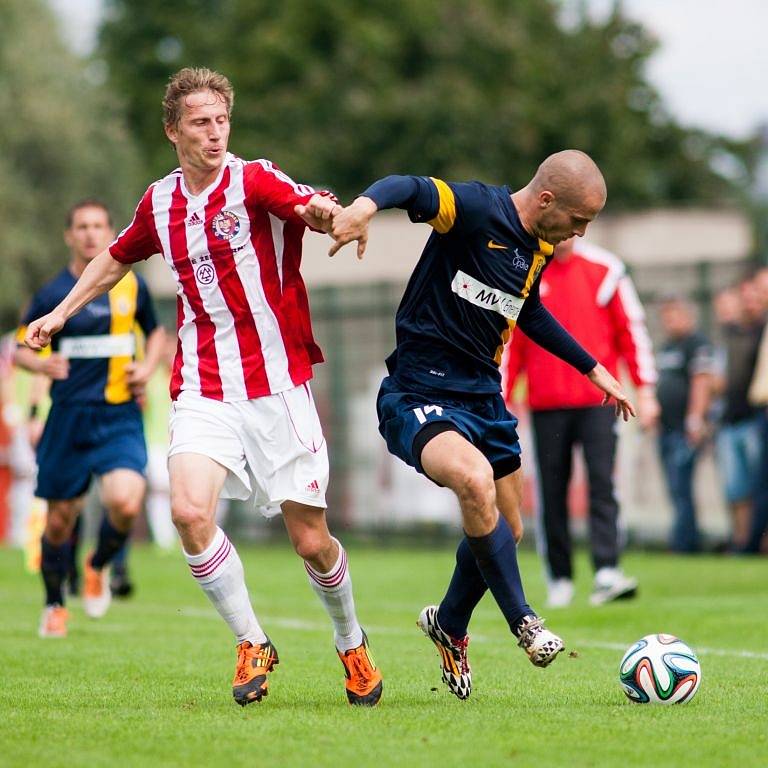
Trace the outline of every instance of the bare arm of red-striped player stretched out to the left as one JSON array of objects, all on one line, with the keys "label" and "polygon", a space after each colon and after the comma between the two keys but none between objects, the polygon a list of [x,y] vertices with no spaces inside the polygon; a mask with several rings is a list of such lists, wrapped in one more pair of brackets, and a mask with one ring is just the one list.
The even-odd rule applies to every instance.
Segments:
[{"label": "bare arm of red-striped player stretched out to the left", "polygon": [[102,251],[83,271],[80,279],[61,303],[43,317],[33,320],[27,326],[24,343],[35,351],[48,346],[51,336],[64,327],[72,315],[81,310],[89,301],[106,293],[125,276],[130,265],[121,264],[112,258],[109,249]]}]

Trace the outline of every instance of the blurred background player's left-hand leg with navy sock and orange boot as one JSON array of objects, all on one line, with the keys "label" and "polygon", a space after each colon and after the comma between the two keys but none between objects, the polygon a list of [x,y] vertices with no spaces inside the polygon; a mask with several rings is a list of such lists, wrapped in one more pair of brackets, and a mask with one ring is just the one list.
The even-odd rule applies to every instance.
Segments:
[{"label": "blurred background player's left-hand leg with navy sock and orange boot", "polygon": [[40,619],[40,637],[66,637],[67,609],[63,583],[70,564],[70,536],[84,499],[51,499],[41,537],[40,573],[45,585],[45,608]]}]

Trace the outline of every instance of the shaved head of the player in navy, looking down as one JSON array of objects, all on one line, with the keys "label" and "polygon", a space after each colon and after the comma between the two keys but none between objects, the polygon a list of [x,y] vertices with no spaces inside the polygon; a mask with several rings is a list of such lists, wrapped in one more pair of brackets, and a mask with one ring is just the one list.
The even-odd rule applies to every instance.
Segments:
[{"label": "shaved head of the player in navy, looking down", "polygon": [[595,161],[578,149],[565,149],[544,160],[512,201],[528,232],[557,245],[581,237],[602,211],[606,196]]}]

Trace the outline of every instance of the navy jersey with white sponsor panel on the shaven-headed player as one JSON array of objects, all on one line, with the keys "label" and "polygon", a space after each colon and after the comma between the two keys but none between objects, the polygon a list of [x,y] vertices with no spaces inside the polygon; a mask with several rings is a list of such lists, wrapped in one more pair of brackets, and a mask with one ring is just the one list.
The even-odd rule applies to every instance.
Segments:
[{"label": "navy jersey with white sponsor panel on the shaven-headed player", "polygon": [[417,389],[498,392],[504,344],[553,248],[525,231],[509,187],[410,178],[408,214],[434,231],[397,311],[389,372]]}]

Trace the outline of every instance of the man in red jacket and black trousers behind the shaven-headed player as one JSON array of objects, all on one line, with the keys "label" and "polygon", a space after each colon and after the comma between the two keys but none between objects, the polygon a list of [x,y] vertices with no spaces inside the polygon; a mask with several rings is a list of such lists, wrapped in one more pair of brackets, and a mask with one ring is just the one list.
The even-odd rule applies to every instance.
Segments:
[{"label": "man in red jacket and black trousers behind the shaven-headed player", "polygon": [[[619,362],[638,388],[640,424],[658,418],[654,394],[656,368],[645,315],[624,264],[612,253],[566,240],[541,280],[541,298],[549,311],[616,376]],[[567,491],[572,455],[580,444],[589,480],[589,540],[595,569],[593,605],[633,597],[637,580],[618,566],[619,508],[613,488],[616,424],[613,409],[601,406],[602,394],[585,377],[534,344],[519,329],[508,347],[505,395],[515,379],[528,374],[540,480],[544,551],[549,571],[550,607],[573,599],[571,537]]]}]

